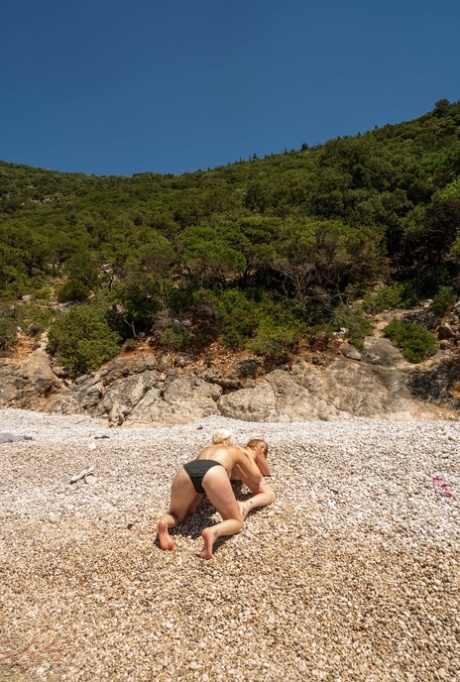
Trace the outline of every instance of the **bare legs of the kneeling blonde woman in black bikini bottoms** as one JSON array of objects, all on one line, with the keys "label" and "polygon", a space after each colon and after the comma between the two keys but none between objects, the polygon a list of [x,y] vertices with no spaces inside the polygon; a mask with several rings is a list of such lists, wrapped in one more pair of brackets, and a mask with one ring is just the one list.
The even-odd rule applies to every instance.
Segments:
[{"label": "bare legs of the kneeling blonde woman in black bikini bottoms", "polygon": [[[243,516],[228,479],[227,471],[223,466],[210,469],[204,475],[202,485],[209,501],[222,517],[222,521],[205,528],[201,534],[204,541],[201,557],[212,559],[214,542],[221,535],[238,533],[243,527]],[[195,499],[196,491],[192,481],[185,469],[181,468],[172,482],[169,512],[163,514],[158,522],[158,539],[161,549],[175,550],[169,529],[174,528],[178,523],[182,523],[187,513],[191,511]]]}]

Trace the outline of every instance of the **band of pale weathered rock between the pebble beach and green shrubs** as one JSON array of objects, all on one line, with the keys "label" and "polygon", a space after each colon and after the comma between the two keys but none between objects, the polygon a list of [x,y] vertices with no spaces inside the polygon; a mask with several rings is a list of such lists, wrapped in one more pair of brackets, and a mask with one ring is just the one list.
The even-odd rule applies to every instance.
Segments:
[{"label": "band of pale weathered rock between the pebble beach and green shrubs", "polygon": [[257,358],[205,367],[190,356],[146,351],[73,383],[39,349],[22,362],[3,361],[0,407],[86,413],[113,426],[183,424],[213,414],[258,422],[421,419],[460,407],[460,370],[452,356],[450,365],[442,364],[441,353],[441,362],[414,368],[381,336],[369,337],[359,353],[344,348],[305,352],[266,374]]}]

